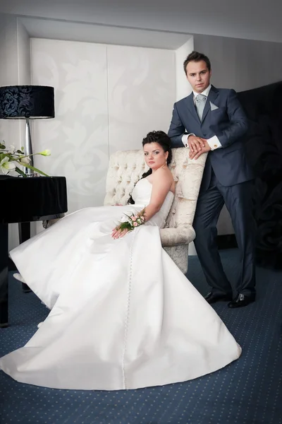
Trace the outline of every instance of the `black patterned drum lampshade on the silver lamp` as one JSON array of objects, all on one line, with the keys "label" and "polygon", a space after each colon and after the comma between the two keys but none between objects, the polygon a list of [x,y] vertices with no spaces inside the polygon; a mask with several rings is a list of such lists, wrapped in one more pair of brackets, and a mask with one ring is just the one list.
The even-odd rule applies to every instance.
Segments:
[{"label": "black patterned drum lampshade on the silver lamp", "polygon": [[54,117],[55,107],[53,87],[0,87],[1,119],[44,119]]}]

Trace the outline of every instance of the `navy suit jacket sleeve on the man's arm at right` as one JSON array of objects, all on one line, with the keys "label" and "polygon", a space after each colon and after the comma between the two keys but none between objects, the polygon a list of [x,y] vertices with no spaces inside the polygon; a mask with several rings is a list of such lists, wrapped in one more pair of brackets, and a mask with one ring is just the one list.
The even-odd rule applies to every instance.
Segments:
[{"label": "navy suit jacket sleeve on the man's arm at right", "polygon": [[230,90],[227,99],[227,113],[229,125],[226,128],[216,131],[221,146],[223,148],[230,146],[247,132],[247,117],[240,105],[235,90]]}]

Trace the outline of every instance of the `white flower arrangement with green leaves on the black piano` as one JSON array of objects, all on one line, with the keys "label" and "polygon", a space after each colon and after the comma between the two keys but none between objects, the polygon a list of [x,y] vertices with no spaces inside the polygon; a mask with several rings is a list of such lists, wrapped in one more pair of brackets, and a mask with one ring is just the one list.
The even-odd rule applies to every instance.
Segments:
[{"label": "white flower arrangement with green leaves on the black piano", "polygon": [[39,153],[34,153],[33,155],[25,155],[23,147],[20,150],[17,150],[15,146],[12,145],[9,149],[6,149],[4,141],[2,143],[0,142],[0,170],[4,175],[7,175],[8,172],[16,171],[18,174],[26,177],[25,172],[23,172],[23,170],[21,170],[18,166],[20,165],[22,167],[27,167],[30,170],[34,170],[45,177],[49,177],[49,175],[45,174],[45,172],[42,172],[36,167],[30,165],[30,156],[35,155],[49,156],[51,153],[47,149]]}]

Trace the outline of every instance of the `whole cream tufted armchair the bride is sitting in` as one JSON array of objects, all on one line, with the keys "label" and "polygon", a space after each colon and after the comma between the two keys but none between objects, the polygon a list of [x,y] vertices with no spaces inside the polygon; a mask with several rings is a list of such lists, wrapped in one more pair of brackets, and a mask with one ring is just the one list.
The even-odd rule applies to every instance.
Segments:
[{"label": "whole cream tufted armchair the bride is sitting in", "polygon": [[[176,181],[176,195],[165,228],[160,230],[161,245],[179,269],[188,270],[188,247],[195,239],[192,222],[207,154],[188,158],[186,148],[173,148],[169,166]],[[104,206],[127,204],[134,184],[147,170],[143,151],[117,151],[111,155],[106,177]]]}]

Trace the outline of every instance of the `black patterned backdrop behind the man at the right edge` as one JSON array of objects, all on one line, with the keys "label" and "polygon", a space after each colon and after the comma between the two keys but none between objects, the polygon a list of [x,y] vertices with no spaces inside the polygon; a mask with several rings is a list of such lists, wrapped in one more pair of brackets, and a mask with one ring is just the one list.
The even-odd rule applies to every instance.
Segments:
[{"label": "black patterned backdrop behind the man at the right edge", "polygon": [[245,141],[255,172],[257,264],[282,269],[282,82],[238,97],[250,121]]}]

